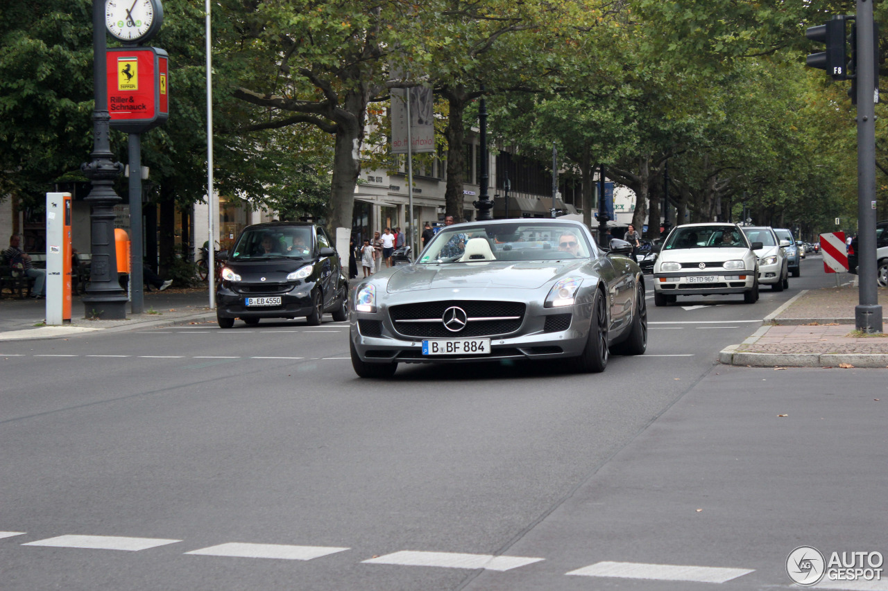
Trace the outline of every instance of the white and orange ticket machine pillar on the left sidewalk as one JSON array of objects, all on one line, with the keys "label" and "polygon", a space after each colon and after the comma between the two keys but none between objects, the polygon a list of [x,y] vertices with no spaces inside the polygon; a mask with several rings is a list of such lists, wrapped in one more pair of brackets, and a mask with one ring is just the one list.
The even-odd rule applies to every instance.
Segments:
[{"label": "white and orange ticket machine pillar on the left sidewalk", "polygon": [[71,322],[71,193],[46,193],[46,324]]}]

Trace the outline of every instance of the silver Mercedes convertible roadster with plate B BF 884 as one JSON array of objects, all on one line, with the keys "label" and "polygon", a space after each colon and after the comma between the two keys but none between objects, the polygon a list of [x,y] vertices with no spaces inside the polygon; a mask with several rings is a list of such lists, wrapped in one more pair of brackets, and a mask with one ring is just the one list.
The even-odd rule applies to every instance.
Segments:
[{"label": "silver Mercedes convertible roadster with plate B BF 884", "polygon": [[629,242],[606,251],[581,223],[503,219],[444,226],[416,262],[353,282],[354,371],[399,363],[566,359],[600,372],[647,347],[645,280]]}]

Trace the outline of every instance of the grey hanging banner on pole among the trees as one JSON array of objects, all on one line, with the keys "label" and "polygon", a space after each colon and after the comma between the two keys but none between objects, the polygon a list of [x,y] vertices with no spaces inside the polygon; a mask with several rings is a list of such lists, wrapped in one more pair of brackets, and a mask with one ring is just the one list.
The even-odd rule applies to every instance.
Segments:
[{"label": "grey hanging banner on pole among the trees", "polygon": [[[400,77],[392,68],[392,78]],[[389,114],[392,118],[392,154],[407,154],[408,122],[407,98],[410,98],[410,136],[413,139],[413,154],[435,151],[434,96],[432,89],[425,86],[413,88],[393,88],[392,105]]]}]

